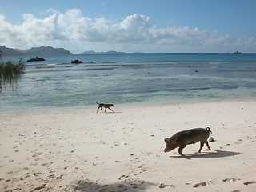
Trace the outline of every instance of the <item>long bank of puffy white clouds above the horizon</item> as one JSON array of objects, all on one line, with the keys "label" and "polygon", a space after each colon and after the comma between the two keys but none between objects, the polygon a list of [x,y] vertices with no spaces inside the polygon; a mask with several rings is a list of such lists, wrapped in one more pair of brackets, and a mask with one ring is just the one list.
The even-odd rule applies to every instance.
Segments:
[{"label": "long bank of puffy white clouds above the horizon", "polygon": [[103,47],[107,50],[156,52],[222,52],[233,51],[234,47],[238,47],[235,50],[256,51],[255,38],[232,38],[228,34],[220,35],[216,30],[191,29],[189,26],[158,28],[150,23],[149,17],[140,14],[114,22],[103,17],[85,17],[78,9],[63,14],[57,10],[48,10],[48,13],[50,15],[42,19],[33,14],[22,14],[21,25],[6,22],[0,14],[1,44],[20,49],[63,46],[77,52],[101,50]]}]

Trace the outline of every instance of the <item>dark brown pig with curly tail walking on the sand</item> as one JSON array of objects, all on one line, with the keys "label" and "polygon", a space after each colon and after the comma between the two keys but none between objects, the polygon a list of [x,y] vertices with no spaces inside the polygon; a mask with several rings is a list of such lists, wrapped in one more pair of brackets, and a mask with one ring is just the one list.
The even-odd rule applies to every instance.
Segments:
[{"label": "dark brown pig with curly tail walking on the sand", "polygon": [[190,130],[182,130],[178,133],[174,134],[170,138],[164,138],[166,142],[166,148],[164,152],[169,152],[171,150],[174,150],[178,147],[178,154],[182,154],[182,150],[185,148],[186,145],[194,144],[196,142],[200,141],[200,149],[198,150],[198,153],[201,152],[203,145],[206,143],[206,146],[208,147],[208,150],[210,150],[210,146],[207,142],[207,138],[209,137],[209,134],[212,133],[210,131],[210,128],[194,128]]}]

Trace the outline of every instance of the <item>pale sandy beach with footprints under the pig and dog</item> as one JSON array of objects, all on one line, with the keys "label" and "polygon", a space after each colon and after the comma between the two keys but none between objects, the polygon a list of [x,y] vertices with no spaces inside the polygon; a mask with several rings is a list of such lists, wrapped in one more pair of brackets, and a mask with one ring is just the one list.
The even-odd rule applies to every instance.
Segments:
[{"label": "pale sandy beach with footprints under the pig and dog", "polygon": [[[256,101],[97,105],[0,117],[0,191],[256,191]],[[164,153],[164,137],[210,127]]]}]

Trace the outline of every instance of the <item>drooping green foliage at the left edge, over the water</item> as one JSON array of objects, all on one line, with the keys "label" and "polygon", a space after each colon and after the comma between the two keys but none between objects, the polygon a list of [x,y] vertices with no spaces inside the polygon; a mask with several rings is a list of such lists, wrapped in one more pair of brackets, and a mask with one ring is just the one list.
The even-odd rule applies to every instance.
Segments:
[{"label": "drooping green foliage at the left edge, over the water", "polygon": [[6,84],[12,84],[18,81],[18,78],[25,71],[25,66],[22,60],[18,62],[18,64],[14,64],[13,62],[2,62],[2,51],[0,51],[0,92]]}]

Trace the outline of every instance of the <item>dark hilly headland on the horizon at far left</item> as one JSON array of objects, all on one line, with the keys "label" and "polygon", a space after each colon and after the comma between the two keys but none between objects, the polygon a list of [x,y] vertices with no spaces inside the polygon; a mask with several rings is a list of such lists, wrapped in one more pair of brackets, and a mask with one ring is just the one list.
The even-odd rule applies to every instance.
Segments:
[{"label": "dark hilly headland on the horizon at far left", "polygon": [[6,56],[72,54],[69,50],[51,46],[33,47],[29,50],[14,50],[6,46],[0,46],[0,50]]}]

